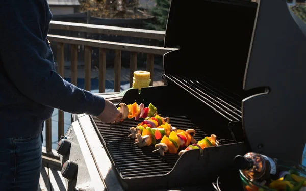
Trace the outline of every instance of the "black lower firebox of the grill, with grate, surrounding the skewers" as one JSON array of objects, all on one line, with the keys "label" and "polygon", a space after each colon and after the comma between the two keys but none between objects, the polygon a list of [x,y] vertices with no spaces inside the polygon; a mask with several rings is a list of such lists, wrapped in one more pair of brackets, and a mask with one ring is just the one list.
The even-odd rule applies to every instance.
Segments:
[{"label": "black lower firebox of the grill, with grate, surrounding the skewers", "polygon": [[234,141],[240,138],[233,138],[231,132],[236,128],[230,128],[227,119],[175,87],[144,88],[141,94],[138,90],[129,90],[121,100],[126,104],[135,101],[145,105],[151,102],[161,116],[170,118],[171,125],[177,129],[195,129],[194,138],[197,141],[216,134],[220,146],[206,148],[202,156],[199,150],[191,150],[181,157],[169,153],[162,157],[152,153],[154,146],[137,147],[134,140],[127,137],[129,128],[137,126],[140,121],[128,119],[121,123],[103,124],[92,117],[125,190],[174,188],[213,182],[224,169],[232,167],[237,154],[247,150],[243,142]]}]

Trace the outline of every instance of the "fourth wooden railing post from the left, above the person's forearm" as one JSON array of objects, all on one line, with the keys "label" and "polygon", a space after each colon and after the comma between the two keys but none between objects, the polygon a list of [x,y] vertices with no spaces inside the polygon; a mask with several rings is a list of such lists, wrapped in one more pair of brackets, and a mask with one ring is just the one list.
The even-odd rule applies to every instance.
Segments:
[{"label": "fourth wooden railing post from the left, above the person's forearm", "polygon": [[99,93],[105,92],[106,49],[99,48]]}]

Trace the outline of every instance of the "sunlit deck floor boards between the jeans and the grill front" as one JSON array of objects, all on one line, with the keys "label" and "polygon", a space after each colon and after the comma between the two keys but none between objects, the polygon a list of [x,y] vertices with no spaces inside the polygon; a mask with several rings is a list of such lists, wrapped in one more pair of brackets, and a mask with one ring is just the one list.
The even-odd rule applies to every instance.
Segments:
[{"label": "sunlit deck floor boards between the jeans and the grill front", "polygon": [[49,167],[42,167],[38,191],[66,191],[66,183],[61,172]]}]

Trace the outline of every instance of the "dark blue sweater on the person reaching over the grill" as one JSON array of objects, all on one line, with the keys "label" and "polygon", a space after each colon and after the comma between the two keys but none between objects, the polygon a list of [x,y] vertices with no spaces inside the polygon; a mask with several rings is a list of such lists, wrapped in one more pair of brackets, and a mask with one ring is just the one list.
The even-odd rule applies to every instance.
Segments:
[{"label": "dark blue sweater on the person reaching over the grill", "polygon": [[0,137],[39,134],[54,108],[99,115],[103,98],[55,71],[46,0],[0,1]]}]

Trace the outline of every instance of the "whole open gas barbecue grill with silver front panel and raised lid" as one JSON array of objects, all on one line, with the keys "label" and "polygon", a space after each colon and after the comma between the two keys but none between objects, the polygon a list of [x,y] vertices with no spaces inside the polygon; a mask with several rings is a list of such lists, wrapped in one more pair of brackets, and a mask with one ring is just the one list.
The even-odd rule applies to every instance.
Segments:
[{"label": "whole open gas barbecue grill with silver front panel and raised lid", "polygon": [[[276,17],[267,15],[271,8]],[[282,18],[285,23],[271,22],[275,18]],[[268,31],[267,23],[273,26]],[[201,30],[202,25],[205,30]],[[284,47],[276,47],[282,39],[282,34],[276,32],[285,31],[288,26],[292,29],[287,32],[300,37],[303,43],[296,45],[293,36],[289,35],[290,41],[286,41]],[[304,75],[299,75],[300,70],[306,69],[301,65],[305,56],[300,54],[306,50],[306,43],[296,26],[286,3],[279,0],[262,0],[260,4],[243,0],[197,0],[188,4],[172,0],[164,47],[179,47],[179,50],[164,55],[163,78],[168,85],[143,88],[140,94],[137,89],[129,90],[119,102],[132,104],[136,101],[146,106],[152,103],[161,116],[170,118],[172,126],[195,129],[197,141],[216,134],[220,145],[205,148],[202,155],[199,150],[190,150],[181,157],[169,153],[159,156],[152,152],[153,146],[137,147],[134,140],[127,137],[129,128],[137,126],[141,120],[104,124],[89,115],[74,116],[75,121],[58,146],[64,166],[62,174],[69,180],[69,189],[168,190],[184,187],[184,190],[193,190],[192,186],[196,186],[194,190],[210,190],[212,186],[208,185],[233,169],[233,158],[250,150],[300,160],[306,133],[301,127],[306,124],[298,111],[284,113],[284,110],[291,109],[290,104],[297,102],[306,104],[304,100],[294,99],[290,99],[290,103],[283,102],[294,97],[284,91],[300,95],[306,92],[293,84],[297,83],[297,78],[306,81]],[[275,53],[284,53],[282,57],[271,54],[271,49],[266,50],[272,47],[276,48]],[[290,51],[288,58],[285,50]],[[288,66],[289,61],[294,61],[291,68],[282,67]],[[277,73],[270,69],[275,67],[278,67]],[[284,76],[288,79],[284,80]],[[283,90],[278,81],[290,84]],[[266,99],[258,100],[260,98]],[[275,101],[282,104],[275,104]],[[276,105],[277,110],[274,109]],[[276,120],[284,114],[287,119],[282,119],[281,123]],[[296,122],[292,121],[293,117]],[[277,130],[281,133],[275,133]],[[297,130],[301,133],[295,135],[295,151],[291,145],[278,141],[278,138],[286,138],[284,132]],[[282,149],[288,154],[284,155]],[[238,186],[235,190],[239,189]]]}]

